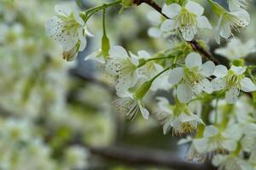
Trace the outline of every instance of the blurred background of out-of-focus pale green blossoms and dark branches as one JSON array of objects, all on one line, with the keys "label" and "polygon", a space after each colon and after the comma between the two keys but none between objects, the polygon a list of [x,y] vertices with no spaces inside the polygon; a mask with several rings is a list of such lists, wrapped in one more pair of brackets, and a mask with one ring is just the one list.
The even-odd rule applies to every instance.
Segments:
[{"label": "blurred background of out-of-focus pale green blossoms and dark branches", "polygon": [[[103,2],[108,1],[84,0],[78,8]],[[206,2],[206,15],[216,26],[207,1],[198,2]],[[72,0],[0,0],[0,169],[212,169],[209,163],[186,161],[188,146],[177,145],[179,138],[172,133],[164,135],[154,115],[127,122],[116,111],[113,77],[102,65],[84,61],[101,46],[101,13],[88,22],[95,37],[87,39],[78,59],[61,59],[61,47],[44,31],[56,3],[76,5]],[[159,35],[160,16],[152,8],[141,5],[122,14],[119,9],[108,9],[111,45],[151,54],[172,48],[175,38]],[[242,41],[255,38],[255,6],[249,11],[252,22],[241,31]],[[217,47],[212,40],[210,44],[211,50]],[[247,60],[255,62],[255,57]],[[155,111],[155,97],[163,95],[169,94],[158,90],[147,95],[149,111]]]}]

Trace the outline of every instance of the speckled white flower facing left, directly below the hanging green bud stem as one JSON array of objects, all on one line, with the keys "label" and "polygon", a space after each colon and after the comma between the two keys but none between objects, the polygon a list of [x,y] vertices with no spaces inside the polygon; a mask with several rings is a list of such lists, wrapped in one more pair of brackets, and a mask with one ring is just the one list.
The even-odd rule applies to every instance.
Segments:
[{"label": "speckled white flower facing left, directly below the hanging green bud stem", "polygon": [[128,54],[125,48],[120,46],[110,48],[106,71],[112,76],[117,76],[115,88],[119,96],[137,83],[137,65],[139,65],[137,56]]}]

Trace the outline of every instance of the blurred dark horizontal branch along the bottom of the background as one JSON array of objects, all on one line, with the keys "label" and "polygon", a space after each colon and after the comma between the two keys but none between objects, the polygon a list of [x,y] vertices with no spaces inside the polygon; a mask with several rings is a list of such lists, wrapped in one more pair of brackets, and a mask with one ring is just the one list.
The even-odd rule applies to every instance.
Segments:
[{"label": "blurred dark horizontal branch along the bottom of the background", "polygon": [[170,167],[177,170],[212,170],[210,164],[193,163],[183,161],[175,153],[162,150],[143,150],[131,147],[113,146],[107,148],[88,148],[97,156],[103,156],[111,160],[119,160],[132,165],[152,165]]}]

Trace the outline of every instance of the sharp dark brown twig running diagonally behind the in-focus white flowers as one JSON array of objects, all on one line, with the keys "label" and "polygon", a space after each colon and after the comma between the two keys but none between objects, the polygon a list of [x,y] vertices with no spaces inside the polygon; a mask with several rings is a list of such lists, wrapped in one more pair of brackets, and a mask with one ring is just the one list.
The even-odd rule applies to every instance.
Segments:
[{"label": "sharp dark brown twig running diagonally behind the in-focus white flowers", "polygon": [[[149,6],[151,6],[152,8],[154,8],[156,11],[158,11],[160,14],[162,14],[164,17],[166,17],[166,19],[170,19],[168,16],[166,16],[166,14],[162,13],[162,9],[160,8],[160,6],[155,3],[153,0],[135,0],[134,1],[135,4],[140,5],[142,3],[147,3]],[[212,60],[215,64],[220,64],[220,62],[218,61],[218,59],[216,59],[215,57],[212,56],[212,54],[210,54],[209,52],[207,52],[206,49],[202,48],[201,45],[196,42],[195,40],[192,41],[187,41],[191,47],[198,53],[202,54],[203,56],[205,56],[207,59]]]}]

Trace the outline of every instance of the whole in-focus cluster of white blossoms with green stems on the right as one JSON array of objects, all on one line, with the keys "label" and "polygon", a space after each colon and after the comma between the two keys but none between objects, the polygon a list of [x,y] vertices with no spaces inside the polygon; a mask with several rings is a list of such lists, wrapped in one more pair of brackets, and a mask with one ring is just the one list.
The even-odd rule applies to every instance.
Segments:
[{"label": "whole in-focus cluster of white blossoms with green stems on the right", "polygon": [[[132,7],[131,1],[115,1],[78,13],[76,9],[55,5],[55,16],[46,22],[46,32],[61,44],[63,58],[73,60],[86,47],[85,37],[92,36],[87,21],[102,11],[102,48],[84,60],[99,62],[114,78],[119,97],[114,101],[117,110],[128,120],[138,113],[148,119],[152,111],[144,101],[147,94],[159,89],[172,91],[170,98],[157,98],[158,109],[153,114],[162,123],[165,134],[172,130],[173,135],[190,135],[179,142],[191,143],[189,160],[209,158],[213,165],[226,170],[255,168],[255,65],[247,65],[244,59],[255,52],[255,44],[253,40],[244,44],[236,37],[250,23],[248,2],[228,0],[226,9],[208,0],[211,12],[218,17],[213,26],[202,4],[192,0],[166,1],[160,11],[162,16],[148,15],[154,22],[148,34],[174,34],[178,42],[156,54],[146,50],[133,53],[110,45],[106,10],[119,3],[125,4],[124,8]],[[206,42],[200,41],[201,32],[212,29],[218,44],[220,37],[229,41],[226,47],[214,51],[227,58],[228,64],[209,58]]]}]

